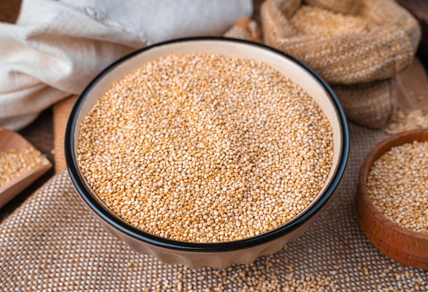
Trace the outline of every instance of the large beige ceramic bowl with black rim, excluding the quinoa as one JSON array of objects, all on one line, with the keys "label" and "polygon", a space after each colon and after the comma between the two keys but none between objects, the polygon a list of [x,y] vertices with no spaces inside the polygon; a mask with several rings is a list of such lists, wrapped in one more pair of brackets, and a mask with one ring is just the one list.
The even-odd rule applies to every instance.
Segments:
[{"label": "large beige ceramic bowl with black rim, excluding the quinoa", "polygon": [[[307,209],[283,226],[255,237],[221,243],[189,243],[145,233],[127,224],[103,206],[86,183],[76,162],[81,121],[98,98],[109,89],[111,83],[122,79],[145,62],[173,53],[213,53],[255,59],[276,68],[314,98],[332,126],[334,157],[325,187]],[[110,233],[123,239],[133,250],[152,254],[164,263],[183,264],[193,268],[205,266],[223,268],[232,263],[251,263],[258,256],[273,254],[283,248],[288,241],[304,233],[332,198],[343,176],[349,153],[349,132],[343,109],[330,87],[297,59],[263,44],[244,40],[186,38],[135,51],[103,70],[82,92],[72,109],[66,129],[65,147],[68,171],[77,191]]]}]

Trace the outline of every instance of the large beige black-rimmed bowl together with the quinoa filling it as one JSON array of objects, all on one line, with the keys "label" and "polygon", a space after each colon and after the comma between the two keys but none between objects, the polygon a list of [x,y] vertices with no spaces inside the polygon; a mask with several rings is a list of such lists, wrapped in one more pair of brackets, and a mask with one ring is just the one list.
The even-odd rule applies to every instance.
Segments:
[{"label": "large beige black-rimmed bowl together with the quinoa filling it", "polygon": [[333,92],[260,44],[191,38],[116,62],[66,133],[79,194],[111,233],[167,263],[278,251],[325,207],[349,137]]}]

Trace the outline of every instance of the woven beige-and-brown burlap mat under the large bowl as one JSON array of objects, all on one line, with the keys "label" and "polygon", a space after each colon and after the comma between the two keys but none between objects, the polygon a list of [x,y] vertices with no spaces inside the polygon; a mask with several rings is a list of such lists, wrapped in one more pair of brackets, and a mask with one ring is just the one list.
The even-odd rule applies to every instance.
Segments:
[{"label": "woven beige-and-brown burlap mat under the large bowl", "polygon": [[224,270],[133,252],[86,209],[67,172],[57,174],[0,225],[0,291],[428,291],[428,271],[387,258],[360,230],[358,172],[386,134],[351,124],[350,135],[343,181],[308,231],[273,256]]}]

